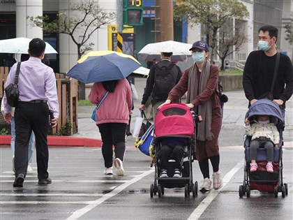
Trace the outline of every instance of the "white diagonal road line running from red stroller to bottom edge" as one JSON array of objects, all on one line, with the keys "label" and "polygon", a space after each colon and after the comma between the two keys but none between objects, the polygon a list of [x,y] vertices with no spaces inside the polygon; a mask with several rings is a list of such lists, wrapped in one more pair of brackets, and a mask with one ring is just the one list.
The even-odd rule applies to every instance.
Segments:
[{"label": "white diagonal road line running from red stroller to bottom edge", "polygon": [[139,181],[140,179],[146,177],[147,175],[151,174],[154,172],[154,169],[148,170],[144,173],[142,173],[141,175],[137,175],[137,177],[131,179],[131,181],[126,182],[124,184],[121,184],[120,186],[118,186],[116,189],[114,189],[113,191],[111,191],[110,193],[105,194],[104,196],[102,196],[101,198],[98,198],[97,200],[94,201],[90,201],[90,205],[87,205],[86,207],[83,207],[80,210],[76,210],[75,212],[73,212],[73,214],[70,215],[70,217],[68,217],[67,219],[78,219],[80,217],[82,217],[82,215],[86,214],[87,212],[91,211],[94,207],[97,207],[98,205],[100,205],[101,203],[103,203],[105,200],[107,200],[108,198],[112,198],[113,196],[116,196],[119,192],[121,192],[123,189],[126,189],[126,187],[130,186],[131,184],[134,184],[135,182]]}]

